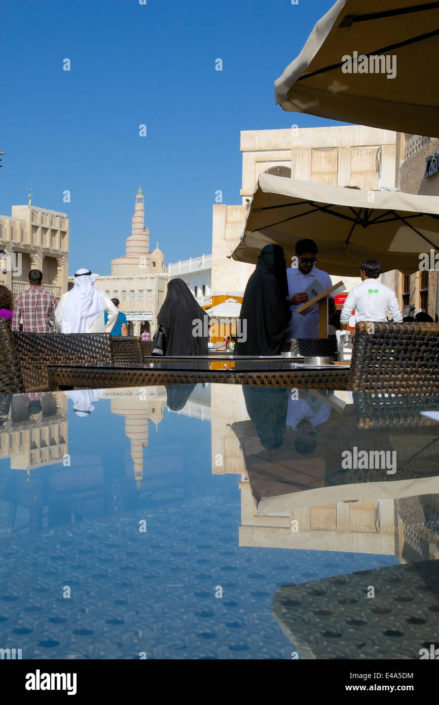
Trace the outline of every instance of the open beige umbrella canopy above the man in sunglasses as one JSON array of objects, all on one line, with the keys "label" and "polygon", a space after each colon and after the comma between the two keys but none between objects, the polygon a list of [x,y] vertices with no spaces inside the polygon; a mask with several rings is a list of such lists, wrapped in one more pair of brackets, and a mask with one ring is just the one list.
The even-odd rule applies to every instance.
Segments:
[{"label": "open beige umbrella canopy above the man in sunglasses", "polygon": [[439,249],[439,198],[261,174],[233,259],[256,262],[276,243],[289,262],[302,238],[315,240],[317,266],[328,274],[358,276],[359,263],[372,258],[381,271],[412,274],[421,253]]}]

